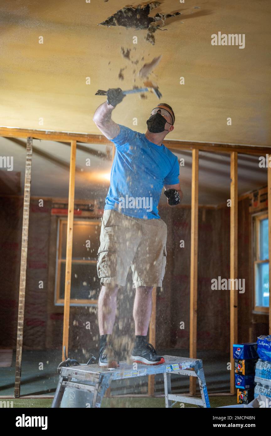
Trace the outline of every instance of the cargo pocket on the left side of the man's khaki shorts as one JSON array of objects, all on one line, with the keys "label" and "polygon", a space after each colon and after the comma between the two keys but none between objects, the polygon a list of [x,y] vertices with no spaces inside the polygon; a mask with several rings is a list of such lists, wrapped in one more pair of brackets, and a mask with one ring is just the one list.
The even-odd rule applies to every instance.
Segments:
[{"label": "cargo pocket on the left side of the man's khaki shorts", "polygon": [[98,249],[97,272],[102,277],[115,277],[117,275],[117,249],[115,242],[101,242]]}]

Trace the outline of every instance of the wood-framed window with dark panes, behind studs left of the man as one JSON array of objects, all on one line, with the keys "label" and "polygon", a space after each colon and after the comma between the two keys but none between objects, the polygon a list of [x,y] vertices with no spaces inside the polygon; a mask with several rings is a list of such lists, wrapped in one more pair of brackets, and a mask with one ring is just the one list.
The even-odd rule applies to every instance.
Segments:
[{"label": "wood-framed window with dark panes, behind studs left of the man", "polygon": [[[55,280],[55,304],[64,305],[67,244],[67,218],[58,220]],[[100,280],[97,256],[100,237],[99,220],[75,219],[71,260],[71,306],[90,306],[98,302]]]}]

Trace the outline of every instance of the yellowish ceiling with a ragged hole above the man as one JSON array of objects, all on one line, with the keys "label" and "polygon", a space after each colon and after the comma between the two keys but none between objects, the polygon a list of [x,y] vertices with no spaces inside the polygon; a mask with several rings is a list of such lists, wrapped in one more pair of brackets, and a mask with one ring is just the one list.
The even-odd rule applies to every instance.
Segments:
[{"label": "yellowish ceiling with a ragged hole above the man", "polygon": [[[166,139],[268,146],[270,12],[268,0],[2,0],[0,125],[97,134],[95,92],[147,77],[176,115]],[[219,31],[245,34],[245,48],[213,46]],[[112,119],[145,132],[157,103],[128,95]]]}]

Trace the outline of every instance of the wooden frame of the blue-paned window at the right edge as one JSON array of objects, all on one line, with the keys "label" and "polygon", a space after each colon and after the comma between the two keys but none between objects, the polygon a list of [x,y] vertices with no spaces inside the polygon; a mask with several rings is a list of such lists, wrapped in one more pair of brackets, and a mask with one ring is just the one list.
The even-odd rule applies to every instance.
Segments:
[{"label": "wooden frame of the blue-paned window at the right edge", "polygon": [[[252,230],[253,230],[253,264],[252,264],[252,276],[253,276],[253,313],[257,314],[268,314],[269,306],[256,306],[256,267],[261,263],[268,263],[269,259],[261,260],[260,257],[260,223],[263,219],[268,219],[268,211],[264,210],[252,215]],[[269,300],[270,300],[270,290],[269,290]]]}]

